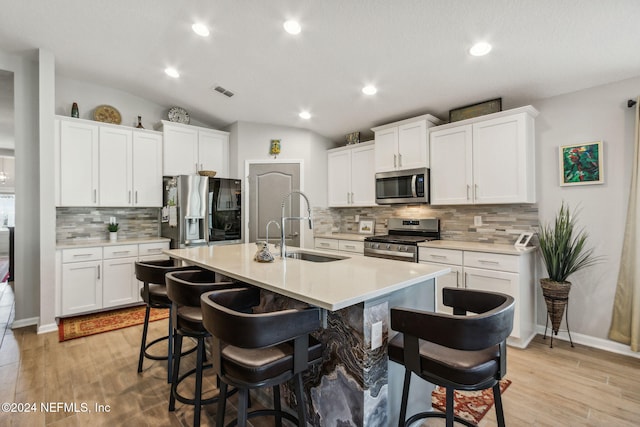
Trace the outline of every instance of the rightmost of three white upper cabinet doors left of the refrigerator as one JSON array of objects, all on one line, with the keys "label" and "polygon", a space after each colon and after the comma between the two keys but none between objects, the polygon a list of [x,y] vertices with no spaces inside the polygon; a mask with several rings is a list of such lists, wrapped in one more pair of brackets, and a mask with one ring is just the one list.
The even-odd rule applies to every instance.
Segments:
[{"label": "rightmost of three white upper cabinet doors left of the refrigerator", "polygon": [[133,206],[162,206],[162,136],[133,133]]}]

